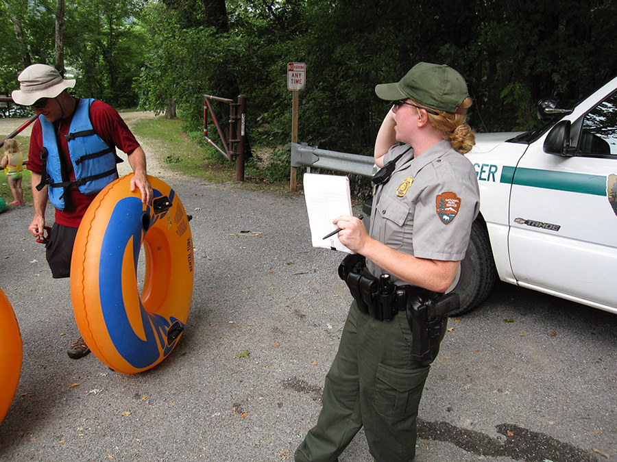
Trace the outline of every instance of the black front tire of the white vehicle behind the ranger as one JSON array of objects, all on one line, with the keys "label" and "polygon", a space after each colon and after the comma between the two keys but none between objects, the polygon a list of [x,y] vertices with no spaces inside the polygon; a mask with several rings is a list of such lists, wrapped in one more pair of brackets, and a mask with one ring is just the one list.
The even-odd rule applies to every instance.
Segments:
[{"label": "black front tire of the white vehicle behind the ranger", "polygon": [[461,277],[452,291],[459,294],[461,307],[450,316],[467,313],[480,305],[493,290],[496,280],[497,270],[486,224],[483,220],[475,220],[467,253],[461,261]]}]

